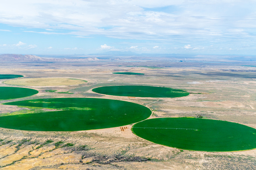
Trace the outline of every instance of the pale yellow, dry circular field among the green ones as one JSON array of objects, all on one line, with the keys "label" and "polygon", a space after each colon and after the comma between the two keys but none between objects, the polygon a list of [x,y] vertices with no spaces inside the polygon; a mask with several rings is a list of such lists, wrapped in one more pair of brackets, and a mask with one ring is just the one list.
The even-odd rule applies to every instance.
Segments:
[{"label": "pale yellow, dry circular field among the green ones", "polygon": [[21,85],[21,86],[68,86],[83,84],[87,81],[81,79],[69,78],[28,78],[4,81],[5,84]]}]

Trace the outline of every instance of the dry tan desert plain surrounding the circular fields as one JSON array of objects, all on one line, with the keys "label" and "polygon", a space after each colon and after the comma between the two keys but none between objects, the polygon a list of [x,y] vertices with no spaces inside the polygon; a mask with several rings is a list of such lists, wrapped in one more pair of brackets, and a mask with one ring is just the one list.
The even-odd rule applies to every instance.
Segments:
[{"label": "dry tan desert plain surrounding the circular fields", "polygon": [[[96,56],[97,57],[97,56]],[[256,128],[256,61],[198,56],[179,58],[98,57],[81,61],[1,61],[1,74],[23,78],[73,78],[87,83],[69,86],[28,87],[39,93],[19,99],[108,98],[130,101],[152,110],[155,117],[199,117],[241,123]],[[139,72],[145,75],[118,75]],[[23,79],[19,78],[19,79]],[[1,80],[3,82],[5,80]],[[188,91],[181,98],[129,98],[96,94],[95,87],[151,85]],[[56,90],[49,92],[47,90]],[[58,93],[68,92],[68,93]],[[0,103],[8,102],[0,101]],[[29,113],[30,109],[0,105],[0,114]],[[0,128],[1,170],[253,170],[256,149],[237,152],[199,152],[146,141],[132,125],[73,132],[41,132]]]}]

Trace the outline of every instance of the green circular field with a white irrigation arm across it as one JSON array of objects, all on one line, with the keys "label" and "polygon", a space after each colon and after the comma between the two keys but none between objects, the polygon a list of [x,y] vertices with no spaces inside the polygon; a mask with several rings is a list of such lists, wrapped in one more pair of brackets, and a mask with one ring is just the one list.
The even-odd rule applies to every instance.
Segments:
[{"label": "green circular field with a white irrigation arm across it", "polygon": [[136,123],[132,131],[148,141],[187,150],[225,152],[256,148],[256,129],[221,120],[147,119]]}]

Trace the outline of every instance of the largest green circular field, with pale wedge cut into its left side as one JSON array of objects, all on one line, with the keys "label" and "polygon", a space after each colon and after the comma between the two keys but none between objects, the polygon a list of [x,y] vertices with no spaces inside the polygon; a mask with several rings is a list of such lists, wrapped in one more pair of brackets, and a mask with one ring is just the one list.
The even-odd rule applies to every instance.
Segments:
[{"label": "largest green circular field, with pale wedge cut into its left side", "polygon": [[77,131],[119,127],[147,119],[151,110],[127,101],[49,98],[4,103],[60,111],[0,116],[0,127],[35,131]]}]

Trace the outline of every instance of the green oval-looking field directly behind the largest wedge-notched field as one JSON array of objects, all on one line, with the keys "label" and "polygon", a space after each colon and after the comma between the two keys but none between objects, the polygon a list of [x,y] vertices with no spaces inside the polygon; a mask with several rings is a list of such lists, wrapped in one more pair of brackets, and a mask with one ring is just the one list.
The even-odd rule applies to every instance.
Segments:
[{"label": "green oval-looking field directly behind the largest wedge-notched field", "polygon": [[92,91],[114,96],[142,98],[176,98],[187,96],[189,94],[184,90],[154,86],[105,86],[94,88]]}]

